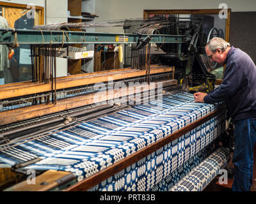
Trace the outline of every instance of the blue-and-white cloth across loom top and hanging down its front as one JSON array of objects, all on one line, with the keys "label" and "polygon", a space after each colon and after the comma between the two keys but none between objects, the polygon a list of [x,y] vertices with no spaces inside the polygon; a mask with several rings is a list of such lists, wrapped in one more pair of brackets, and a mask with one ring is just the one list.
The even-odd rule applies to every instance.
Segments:
[{"label": "blue-and-white cloth across loom top and hanging down its front", "polygon": [[[178,92],[161,101],[134,106],[98,119],[81,122],[33,141],[1,150],[0,161],[34,170],[73,172],[77,180],[90,177],[132,153],[179,131],[213,112],[218,104],[194,103],[193,94]],[[183,163],[215,140],[225,128],[225,113],[180,136],[92,190],[149,191]]]}]

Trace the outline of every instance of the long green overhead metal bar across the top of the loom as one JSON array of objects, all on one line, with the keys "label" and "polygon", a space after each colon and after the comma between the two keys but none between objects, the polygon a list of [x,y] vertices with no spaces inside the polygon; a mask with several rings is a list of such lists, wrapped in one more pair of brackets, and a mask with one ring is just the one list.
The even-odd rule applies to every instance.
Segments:
[{"label": "long green overhead metal bar across the top of the loom", "polygon": [[[88,33],[83,31],[42,31],[25,29],[0,29],[0,44],[84,44],[84,43],[137,43],[147,34]],[[186,43],[184,35],[150,34],[149,43]]]}]

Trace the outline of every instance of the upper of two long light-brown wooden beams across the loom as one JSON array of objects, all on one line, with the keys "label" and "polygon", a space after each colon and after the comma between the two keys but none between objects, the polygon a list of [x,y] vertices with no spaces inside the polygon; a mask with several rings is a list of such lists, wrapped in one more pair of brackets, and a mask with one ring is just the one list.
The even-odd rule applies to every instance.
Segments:
[{"label": "upper of two long light-brown wooden beams across the loom", "polygon": [[[173,67],[157,66],[150,68],[150,74],[165,73],[173,71]],[[100,71],[90,74],[81,74],[76,76],[60,77],[56,80],[56,89],[65,89],[79,87],[82,85],[97,84],[108,82],[109,80],[120,80],[123,78],[140,77],[146,75],[146,70],[140,69],[113,69],[109,71]],[[42,82],[21,82],[17,84],[6,84],[0,86],[0,99],[26,96],[40,92],[52,91],[51,84]]]}]

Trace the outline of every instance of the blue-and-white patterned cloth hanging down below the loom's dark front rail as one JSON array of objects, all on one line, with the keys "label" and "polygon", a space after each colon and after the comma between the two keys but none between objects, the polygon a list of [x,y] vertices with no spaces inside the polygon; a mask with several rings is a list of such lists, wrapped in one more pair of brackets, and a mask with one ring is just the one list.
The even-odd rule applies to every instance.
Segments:
[{"label": "blue-and-white patterned cloth hanging down below the loom's dark front rail", "polygon": [[204,132],[210,124],[214,124],[214,119],[180,136],[90,191],[168,191],[170,186],[176,184],[214,150],[211,143],[215,138],[210,137],[211,131],[219,132],[221,126],[219,124],[218,128],[207,128]]}]

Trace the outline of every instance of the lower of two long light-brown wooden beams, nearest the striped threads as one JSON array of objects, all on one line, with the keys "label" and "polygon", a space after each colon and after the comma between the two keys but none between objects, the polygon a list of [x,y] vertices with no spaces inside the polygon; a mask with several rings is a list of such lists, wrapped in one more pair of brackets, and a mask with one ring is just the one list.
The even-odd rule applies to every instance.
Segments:
[{"label": "lower of two long light-brown wooden beams, nearest the striped threads", "polygon": [[[161,83],[167,83],[168,85],[177,85],[177,80],[171,80],[171,82]],[[71,108],[86,106],[93,103],[106,102],[111,99],[122,98],[139,92],[150,91],[153,89],[157,89],[157,82],[156,84],[153,82],[150,85],[126,87],[106,92],[99,91],[93,94],[76,96],[74,98],[60,99],[57,101],[56,105],[51,103],[47,105],[35,105],[15,110],[8,110],[5,112],[0,112],[0,126],[3,126],[5,124],[11,124],[13,122],[19,122],[22,120],[32,119],[35,117],[40,117],[42,115],[61,112]]]}]

